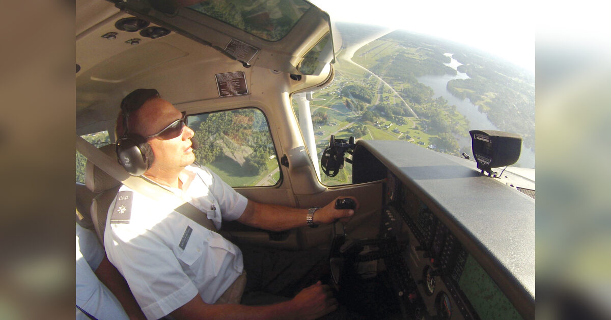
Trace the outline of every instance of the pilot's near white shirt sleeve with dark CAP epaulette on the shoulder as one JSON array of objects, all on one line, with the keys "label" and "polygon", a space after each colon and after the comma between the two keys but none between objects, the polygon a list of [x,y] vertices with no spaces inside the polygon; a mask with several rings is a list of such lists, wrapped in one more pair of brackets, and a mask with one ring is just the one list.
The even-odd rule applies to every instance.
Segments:
[{"label": "pilot's near white shirt sleeve with dark CAP epaulette on the shoulder", "polygon": [[162,318],[197,295],[177,257],[155,233],[120,223],[106,230],[108,258],[125,277],[147,318]]}]

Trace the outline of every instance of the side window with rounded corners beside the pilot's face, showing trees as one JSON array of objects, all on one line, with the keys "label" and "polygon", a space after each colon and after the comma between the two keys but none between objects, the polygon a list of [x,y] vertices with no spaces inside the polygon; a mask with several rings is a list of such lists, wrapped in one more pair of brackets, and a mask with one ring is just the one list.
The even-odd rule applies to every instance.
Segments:
[{"label": "side window with rounded corners beside the pilot's face, showing trees", "polygon": [[276,185],[280,166],[263,113],[255,108],[189,116],[197,162],[232,187]]}]

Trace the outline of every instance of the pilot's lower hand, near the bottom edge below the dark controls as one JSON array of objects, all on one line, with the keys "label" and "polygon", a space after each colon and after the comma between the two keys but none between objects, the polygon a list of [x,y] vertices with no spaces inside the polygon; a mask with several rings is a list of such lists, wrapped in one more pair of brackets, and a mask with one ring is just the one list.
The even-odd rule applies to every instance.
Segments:
[{"label": "pilot's lower hand, near the bottom edge below the dark controls", "polygon": [[290,301],[296,319],[317,319],[337,309],[337,300],[331,288],[320,281],[303,289]]}]

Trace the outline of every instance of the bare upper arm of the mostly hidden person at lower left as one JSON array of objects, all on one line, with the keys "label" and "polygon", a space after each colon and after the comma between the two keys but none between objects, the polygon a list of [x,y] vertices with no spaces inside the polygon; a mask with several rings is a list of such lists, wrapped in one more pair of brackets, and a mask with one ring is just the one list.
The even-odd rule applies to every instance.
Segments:
[{"label": "bare upper arm of the mostly hidden person at lower left", "polygon": [[95,269],[95,275],[117,297],[117,300],[119,300],[123,310],[125,310],[130,319],[146,319],[136,299],[134,299],[130,287],[128,287],[125,279],[121,277],[119,270],[108,261],[106,255],[104,255],[104,259],[100,262],[98,269]]}]

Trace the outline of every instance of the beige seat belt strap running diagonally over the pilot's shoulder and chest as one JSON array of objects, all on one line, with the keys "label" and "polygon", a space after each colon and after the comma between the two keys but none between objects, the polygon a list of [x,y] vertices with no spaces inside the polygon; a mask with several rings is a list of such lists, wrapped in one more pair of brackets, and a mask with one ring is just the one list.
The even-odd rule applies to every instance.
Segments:
[{"label": "beige seat belt strap running diagonally over the pilot's shoulder and chest", "polygon": [[97,147],[93,146],[93,144],[90,144],[87,142],[87,140],[84,140],[79,135],[76,135],[76,150],[81,152],[81,154],[84,155],[87,160],[93,162],[93,164],[98,168],[108,173],[109,176],[122,182],[122,184],[126,185],[132,190],[136,190],[136,192],[141,193],[142,195],[145,195],[155,201],[172,204],[172,206],[175,207],[174,210],[176,212],[190,218],[196,223],[199,223],[199,225],[202,225],[208,230],[218,233],[218,230],[216,227],[214,227],[214,223],[208,219],[208,216],[205,213],[197,209],[197,207],[179,198],[177,195],[169,192],[163,187],[148,181],[147,179],[131,176],[131,174],[127,173],[127,171],[125,171],[125,169],[119,165],[116,159],[104,154],[104,152],[98,150]]}]

